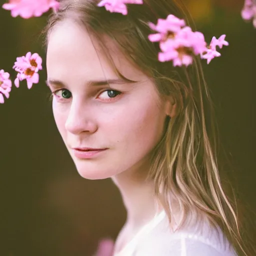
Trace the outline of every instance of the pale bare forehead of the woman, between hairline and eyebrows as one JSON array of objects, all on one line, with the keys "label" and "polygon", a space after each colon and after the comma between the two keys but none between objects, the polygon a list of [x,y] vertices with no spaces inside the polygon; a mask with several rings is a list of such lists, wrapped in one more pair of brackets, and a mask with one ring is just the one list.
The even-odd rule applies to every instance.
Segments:
[{"label": "pale bare forehead of the woman, between hairline and eyebrows", "polygon": [[[144,80],[146,76],[136,68],[107,36],[104,36],[105,47],[86,31],[85,27],[69,19],[57,23],[48,37],[47,71],[72,70],[84,75],[116,77],[107,55],[111,56],[115,67],[126,78]],[[107,50],[108,54],[105,54]],[[97,78],[97,77],[95,77]]]}]

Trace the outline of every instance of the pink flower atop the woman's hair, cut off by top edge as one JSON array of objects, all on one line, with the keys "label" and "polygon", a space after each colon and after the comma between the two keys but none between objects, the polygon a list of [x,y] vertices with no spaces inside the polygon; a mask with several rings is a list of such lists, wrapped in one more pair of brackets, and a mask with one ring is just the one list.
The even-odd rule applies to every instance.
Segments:
[{"label": "pink flower atop the woman's hair, cut off by top edge", "polygon": [[127,3],[142,4],[143,0],[101,0],[97,5],[99,7],[105,6],[105,9],[110,12],[119,12],[127,15]]}]

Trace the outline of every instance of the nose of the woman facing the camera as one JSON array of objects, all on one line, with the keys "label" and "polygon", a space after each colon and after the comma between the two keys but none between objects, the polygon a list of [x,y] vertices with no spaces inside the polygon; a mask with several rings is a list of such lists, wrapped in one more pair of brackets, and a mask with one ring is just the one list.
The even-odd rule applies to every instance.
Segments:
[{"label": "nose of the woman facing the camera", "polygon": [[97,130],[95,114],[88,107],[72,104],[65,122],[65,128],[73,134],[93,133]]}]

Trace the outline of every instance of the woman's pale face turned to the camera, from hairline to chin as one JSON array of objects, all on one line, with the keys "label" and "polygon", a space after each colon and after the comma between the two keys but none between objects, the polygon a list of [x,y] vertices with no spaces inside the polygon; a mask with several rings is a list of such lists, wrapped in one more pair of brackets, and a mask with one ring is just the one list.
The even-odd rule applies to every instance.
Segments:
[{"label": "woman's pale face turned to the camera, from hairline to chin", "polygon": [[121,80],[78,24],[62,21],[49,35],[54,119],[79,174],[88,179],[143,168],[169,110],[147,76],[123,55],[112,57],[125,77],[138,82]]}]

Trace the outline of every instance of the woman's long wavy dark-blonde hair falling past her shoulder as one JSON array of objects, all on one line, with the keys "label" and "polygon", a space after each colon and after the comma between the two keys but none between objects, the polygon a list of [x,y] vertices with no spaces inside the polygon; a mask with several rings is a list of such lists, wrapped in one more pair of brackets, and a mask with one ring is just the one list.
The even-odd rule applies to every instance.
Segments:
[{"label": "woman's long wavy dark-blonde hair falling past her shoulder", "polygon": [[240,225],[233,193],[227,196],[220,179],[214,108],[201,60],[194,57],[192,65],[174,68],[171,62],[158,61],[159,45],[148,40],[148,34],[152,33],[148,21],[156,23],[158,18],[171,13],[192,26],[188,12],[181,0],[143,1],[130,4],[128,15],[121,15],[97,7],[97,0],[60,0],[60,9],[50,16],[45,28],[45,43],[56,23],[72,18],[97,39],[118,75],[133,82],[115,67],[106,38],[153,80],[160,97],[171,95],[175,99],[176,115],[166,118],[165,131],[152,152],[147,176],[154,180],[156,197],[170,223],[169,194],[178,203],[181,212],[178,228],[190,221],[188,216],[193,216],[193,221],[201,221],[201,216],[205,216],[214,228],[220,227],[238,255],[256,255]]}]

